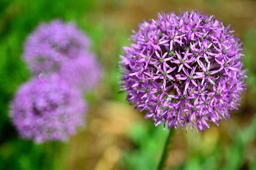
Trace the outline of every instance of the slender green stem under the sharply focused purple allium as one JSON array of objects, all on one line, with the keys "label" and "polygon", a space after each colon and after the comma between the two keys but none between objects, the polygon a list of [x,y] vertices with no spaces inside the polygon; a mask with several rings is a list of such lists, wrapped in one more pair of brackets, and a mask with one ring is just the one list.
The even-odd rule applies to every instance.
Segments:
[{"label": "slender green stem under the sharply focused purple allium", "polygon": [[164,170],[165,165],[166,165],[166,160],[168,158],[170,150],[172,149],[172,143],[174,140],[174,136],[175,136],[175,128],[172,127],[172,129],[170,129],[168,137],[166,138],[166,143],[164,145],[163,153],[162,153],[160,162],[158,164],[157,170]]}]

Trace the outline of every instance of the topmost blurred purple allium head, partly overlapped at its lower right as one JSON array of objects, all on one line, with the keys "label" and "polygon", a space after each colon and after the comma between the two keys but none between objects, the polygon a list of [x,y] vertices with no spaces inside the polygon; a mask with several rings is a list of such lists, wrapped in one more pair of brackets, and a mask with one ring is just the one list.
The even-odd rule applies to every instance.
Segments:
[{"label": "topmost blurred purple allium head, partly overlapped at its lower right", "polygon": [[34,75],[58,71],[69,58],[77,58],[81,51],[90,48],[90,41],[74,23],[53,20],[41,23],[28,36],[23,58]]}]

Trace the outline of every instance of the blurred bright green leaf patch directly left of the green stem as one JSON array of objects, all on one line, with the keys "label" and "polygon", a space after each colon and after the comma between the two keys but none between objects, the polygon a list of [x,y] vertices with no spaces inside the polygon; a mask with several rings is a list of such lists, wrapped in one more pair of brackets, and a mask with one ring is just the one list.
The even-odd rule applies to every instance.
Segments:
[{"label": "blurred bright green leaf patch directly left of the green stem", "polygon": [[154,127],[152,122],[137,122],[128,133],[137,150],[125,153],[124,164],[128,170],[156,170],[168,130]]}]

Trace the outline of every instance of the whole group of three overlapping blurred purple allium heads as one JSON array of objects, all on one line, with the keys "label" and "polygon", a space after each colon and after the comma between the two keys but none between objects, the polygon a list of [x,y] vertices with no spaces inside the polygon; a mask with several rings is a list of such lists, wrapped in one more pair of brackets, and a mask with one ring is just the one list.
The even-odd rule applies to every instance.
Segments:
[{"label": "whole group of three overlapping blurred purple allium heads", "polygon": [[101,68],[88,38],[72,23],[42,23],[26,40],[23,58],[34,78],[11,104],[15,127],[36,143],[66,141],[83,125],[83,92],[99,82]]}]

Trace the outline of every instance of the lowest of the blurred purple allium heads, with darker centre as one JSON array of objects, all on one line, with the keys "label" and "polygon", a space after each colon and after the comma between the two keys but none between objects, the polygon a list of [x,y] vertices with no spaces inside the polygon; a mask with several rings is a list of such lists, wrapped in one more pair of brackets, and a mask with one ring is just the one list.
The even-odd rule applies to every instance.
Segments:
[{"label": "lowest of the blurred purple allium heads, with darker centre", "polygon": [[58,75],[34,78],[20,86],[10,117],[23,138],[68,140],[84,124],[86,104],[79,92]]}]

